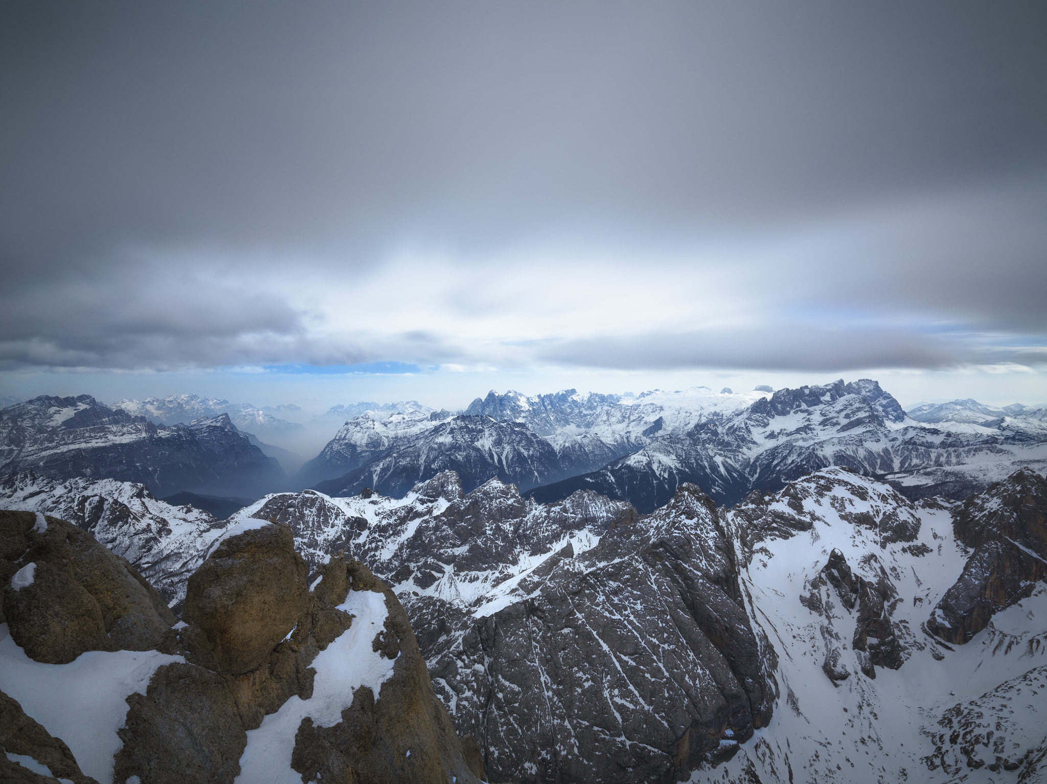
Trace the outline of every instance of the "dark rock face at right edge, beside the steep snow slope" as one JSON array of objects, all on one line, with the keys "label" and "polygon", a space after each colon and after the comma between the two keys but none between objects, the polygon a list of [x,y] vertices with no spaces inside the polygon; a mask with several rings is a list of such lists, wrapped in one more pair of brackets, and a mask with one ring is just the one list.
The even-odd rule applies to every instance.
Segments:
[{"label": "dark rock face at right edge, beside the steep snow slope", "polygon": [[967,498],[953,515],[956,538],[974,553],[935,606],[927,628],[963,644],[993,615],[1047,578],[1047,480],[1021,470]]}]

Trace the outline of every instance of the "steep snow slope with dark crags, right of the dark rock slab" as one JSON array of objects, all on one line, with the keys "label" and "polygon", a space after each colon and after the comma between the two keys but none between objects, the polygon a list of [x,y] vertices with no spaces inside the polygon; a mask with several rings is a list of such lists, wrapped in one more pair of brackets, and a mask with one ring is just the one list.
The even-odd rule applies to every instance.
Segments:
[{"label": "steep snow slope with dark crags, right of the dark rock slab", "polygon": [[783,699],[736,757],[691,781],[1044,780],[1043,582],[953,646],[926,629],[970,553],[948,505],[827,469],[731,515],[739,530],[752,520],[741,583],[779,652]]}]

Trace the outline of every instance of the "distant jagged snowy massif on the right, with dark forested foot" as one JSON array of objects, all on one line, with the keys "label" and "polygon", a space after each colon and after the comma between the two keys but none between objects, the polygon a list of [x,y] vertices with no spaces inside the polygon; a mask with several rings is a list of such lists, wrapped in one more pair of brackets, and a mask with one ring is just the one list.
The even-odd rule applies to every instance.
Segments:
[{"label": "distant jagged snowy massif on the right, with dark forested foot", "polygon": [[745,409],[714,411],[599,471],[531,491],[543,501],[591,489],[648,512],[692,483],[717,503],[774,491],[827,466],[884,477],[913,497],[964,497],[1016,468],[1047,467],[1047,432],[1035,427],[926,425],[867,379],[779,389]]}]

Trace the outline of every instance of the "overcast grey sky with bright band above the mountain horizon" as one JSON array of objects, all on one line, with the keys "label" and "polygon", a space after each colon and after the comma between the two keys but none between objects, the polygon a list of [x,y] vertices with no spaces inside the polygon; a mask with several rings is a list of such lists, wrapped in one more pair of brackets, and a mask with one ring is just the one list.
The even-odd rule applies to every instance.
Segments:
[{"label": "overcast grey sky with bright band above the mountain horizon", "polygon": [[1047,402],[1045,41],[1042,2],[4,2],[0,391]]}]

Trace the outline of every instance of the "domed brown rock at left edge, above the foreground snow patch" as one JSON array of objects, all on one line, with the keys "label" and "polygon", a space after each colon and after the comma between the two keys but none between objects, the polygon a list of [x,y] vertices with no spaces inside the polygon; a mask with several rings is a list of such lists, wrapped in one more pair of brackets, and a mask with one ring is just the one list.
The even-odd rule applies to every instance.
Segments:
[{"label": "domed brown rock at left edge, above the foreground snow patch", "polygon": [[[4,617],[12,636],[38,662],[71,662],[89,650],[168,650],[175,618],[125,559],[64,520],[0,511],[8,579]],[[17,555],[16,555],[17,554]]]}]

